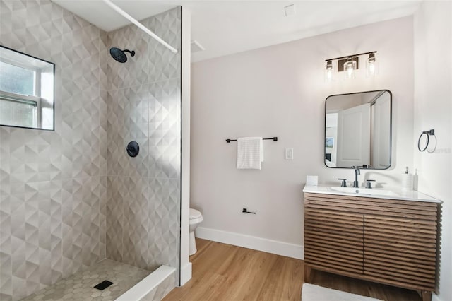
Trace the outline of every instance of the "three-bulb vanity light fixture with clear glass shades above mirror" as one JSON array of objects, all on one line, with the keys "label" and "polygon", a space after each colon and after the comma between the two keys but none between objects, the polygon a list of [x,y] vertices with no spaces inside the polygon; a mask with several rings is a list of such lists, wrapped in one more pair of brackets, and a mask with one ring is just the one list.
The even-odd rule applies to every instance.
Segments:
[{"label": "three-bulb vanity light fixture with clear glass shades above mirror", "polygon": [[369,54],[369,58],[366,59],[366,75],[369,77],[375,76],[378,71],[378,61],[376,59],[376,51],[373,51],[326,59],[325,81],[333,81],[336,71],[335,61],[337,61],[338,66],[337,72],[344,72],[345,78],[355,78],[356,71],[359,69],[359,57],[366,54]]}]

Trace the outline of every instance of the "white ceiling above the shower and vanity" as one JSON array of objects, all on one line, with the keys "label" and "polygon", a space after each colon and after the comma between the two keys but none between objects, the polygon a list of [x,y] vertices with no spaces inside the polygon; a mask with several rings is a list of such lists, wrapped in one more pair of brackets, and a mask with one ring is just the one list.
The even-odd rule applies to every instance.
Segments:
[{"label": "white ceiling above the shower and vanity", "polygon": [[[129,21],[101,0],[52,0],[111,31]],[[112,0],[137,20],[176,6],[191,11],[191,40],[206,49],[191,54],[191,61],[330,33],[336,30],[409,16],[420,4],[408,1],[172,1]],[[285,16],[285,6],[295,5],[295,15]]]}]

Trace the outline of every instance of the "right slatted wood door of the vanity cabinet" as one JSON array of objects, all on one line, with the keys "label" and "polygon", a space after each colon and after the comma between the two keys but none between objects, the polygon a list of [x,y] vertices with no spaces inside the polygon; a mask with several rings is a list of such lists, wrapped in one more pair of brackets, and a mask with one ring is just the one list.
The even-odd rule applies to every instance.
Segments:
[{"label": "right slatted wood door of the vanity cabinet", "polygon": [[416,218],[364,215],[364,276],[434,290],[435,209],[426,207]]}]

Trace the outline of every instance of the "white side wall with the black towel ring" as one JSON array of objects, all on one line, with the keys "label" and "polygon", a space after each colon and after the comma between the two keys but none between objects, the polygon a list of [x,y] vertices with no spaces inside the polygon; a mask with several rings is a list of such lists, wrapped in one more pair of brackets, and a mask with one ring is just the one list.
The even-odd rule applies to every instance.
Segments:
[{"label": "white side wall with the black towel ring", "polygon": [[[423,2],[415,13],[415,131],[418,190],[444,201],[439,300],[452,300],[452,4]],[[417,151],[422,131],[435,130],[434,153]]]}]

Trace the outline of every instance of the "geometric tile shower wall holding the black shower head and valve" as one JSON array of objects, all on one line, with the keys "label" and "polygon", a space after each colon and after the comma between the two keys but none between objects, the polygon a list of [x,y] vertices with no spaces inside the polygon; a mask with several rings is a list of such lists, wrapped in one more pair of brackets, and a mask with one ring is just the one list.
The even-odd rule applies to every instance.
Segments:
[{"label": "geometric tile shower wall holding the black shower head and valve", "polygon": [[[181,49],[181,8],[142,21]],[[108,47],[136,52],[107,58],[107,258],[155,269],[177,268],[181,177],[181,55],[134,25],[108,33]],[[140,144],[136,158],[129,141]]]}]

